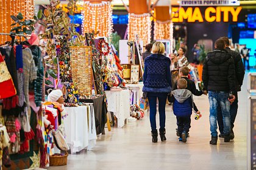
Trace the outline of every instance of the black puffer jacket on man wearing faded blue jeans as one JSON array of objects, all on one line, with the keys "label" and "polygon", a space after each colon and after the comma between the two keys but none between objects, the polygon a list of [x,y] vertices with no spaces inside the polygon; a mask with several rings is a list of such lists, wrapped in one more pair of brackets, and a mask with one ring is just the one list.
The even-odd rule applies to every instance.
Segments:
[{"label": "black puffer jacket on man wearing faded blue jeans", "polygon": [[207,54],[202,80],[206,90],[235,92],[235,65],[227,50],[216,49]]}]

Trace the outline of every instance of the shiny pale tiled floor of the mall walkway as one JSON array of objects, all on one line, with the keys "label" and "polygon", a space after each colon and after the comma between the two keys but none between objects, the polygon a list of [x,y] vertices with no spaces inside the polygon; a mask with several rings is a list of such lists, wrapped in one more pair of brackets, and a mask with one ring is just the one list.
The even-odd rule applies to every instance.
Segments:
[{"label": "shiny pale tiled floor of the mall walkway", "polygon": [[[93,151],[69,155],[68,165],[49,169],[246,169],[247,148],[247,81],[239,95],[239,109],[235,123],[235,139],[230,143],[218,140],[210,145],[209,104],[207,96],[194,97],[202,112],[199,120],[191,119],[190,138],[179,143],[176,137],[176,117],[166,106],[166,138],[157,143],[151,141],[149,114],[123,128],[98,138]],[[157,120],[158,122],[158,120]]]}]

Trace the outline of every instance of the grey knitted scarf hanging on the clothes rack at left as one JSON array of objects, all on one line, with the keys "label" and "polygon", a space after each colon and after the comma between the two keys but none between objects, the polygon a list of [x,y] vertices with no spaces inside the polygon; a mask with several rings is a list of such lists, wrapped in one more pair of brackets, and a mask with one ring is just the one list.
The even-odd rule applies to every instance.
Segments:
[{"label": "grey knitted scarf hanging on the clothes rack at left", "polygon": [[[23,50],[23,71],[24,71],[24,95],[27,106],[29,105],[29,81],[37,78],[37,68],[33,60],[32,52],[26,48]],[[27,107],[27,113],[30,118],[31,110]]]}]

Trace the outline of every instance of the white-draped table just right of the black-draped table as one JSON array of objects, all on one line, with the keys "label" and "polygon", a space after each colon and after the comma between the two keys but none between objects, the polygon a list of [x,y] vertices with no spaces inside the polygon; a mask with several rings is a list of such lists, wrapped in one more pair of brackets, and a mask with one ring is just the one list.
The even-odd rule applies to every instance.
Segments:
[{"label": "white-draped table just right of the black-draped table", "polygon": [[107,97],[107,110],[113,112],[118,118],[118,127],[124,126],[124,120],[130,117],[130,92],[129,89],[121,91],[105,91]]}]

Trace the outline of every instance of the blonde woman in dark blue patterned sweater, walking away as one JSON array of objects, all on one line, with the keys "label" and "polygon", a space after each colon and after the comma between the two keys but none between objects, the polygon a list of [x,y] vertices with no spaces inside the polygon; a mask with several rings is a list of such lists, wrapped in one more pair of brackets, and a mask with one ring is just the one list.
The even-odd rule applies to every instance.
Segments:
[{"label": "blonde woman in dark blue patterned sweater, walking away", "polygon": [[150,123],[152,142],[157,142],[157,124],[155,115],[158,111],[160,117],[159,134],[162,141],[165,137],[165,104],[169,92],[171,92],[171,61],[164,56],[165,45],[162,42],[155,42],[152,47],[152,55],[148,56],[144,62],[143,92],[147,94],[150,107]]}]

